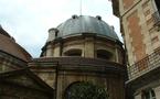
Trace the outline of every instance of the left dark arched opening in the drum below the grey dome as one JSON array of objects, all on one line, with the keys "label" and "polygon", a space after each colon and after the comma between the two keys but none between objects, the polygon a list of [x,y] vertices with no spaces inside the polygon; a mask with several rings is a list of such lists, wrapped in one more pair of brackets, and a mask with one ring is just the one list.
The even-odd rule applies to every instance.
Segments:
[{"label": "left dark arched opening in the drum below the grey dome", "polygon": [[82,56],[82,50],[70,50],[64,53],[65,56]]}]

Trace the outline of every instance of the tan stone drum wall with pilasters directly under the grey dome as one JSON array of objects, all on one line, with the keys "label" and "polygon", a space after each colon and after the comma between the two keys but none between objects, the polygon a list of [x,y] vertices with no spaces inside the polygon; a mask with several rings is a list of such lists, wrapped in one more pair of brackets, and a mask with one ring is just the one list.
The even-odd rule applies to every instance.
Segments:
[{"label": "tan stone drum wall with pilasters directly under the grey dome", "polygon": [[[64,43],[60,44],[62,41]],[[110,53],[110,62],[124,64],[124,61],[121,59],[121,56],[124,56],[122,47],[109,40],[95,37],[95,35],[82,35],[77,37],[70,37],[66,40],[64,38],[60,40],[57,43],[47,43],[46,46],[43,47],[46,51],[43,52],[44,55],[42,57],[65,57],[68,56],[66,53],[70,51],[81,51],[82,54],[79,56],[82,57],[98,58],[98,51],[102,50]]]}]

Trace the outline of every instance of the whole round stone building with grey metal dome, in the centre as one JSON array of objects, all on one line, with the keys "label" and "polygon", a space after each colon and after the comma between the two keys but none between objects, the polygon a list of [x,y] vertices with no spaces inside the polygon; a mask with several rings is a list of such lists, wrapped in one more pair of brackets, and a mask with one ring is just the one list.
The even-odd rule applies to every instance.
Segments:
[{"label": "whole round stone building with grey metal dome, in the centre", "polygon": [[[86,19],[99,23],[92,24]],[[108,30],[93,29],[102,22],[100,18],[74,15],[57,29],[49,30],[41,57],[29,63],[31,70],[55,89],[57,99],[65,98],[66,89],[81,81],[104,87],[111,99],[125,99],[122,44],[116,36],[109,37],[108,30],[113,31],[110,26],[100,26]],[[79,32],[79,25],[84,28],[83,32]],[[87,26],[90,29],[85,29]],[[97,31],[106,34],[102,35]]]}]

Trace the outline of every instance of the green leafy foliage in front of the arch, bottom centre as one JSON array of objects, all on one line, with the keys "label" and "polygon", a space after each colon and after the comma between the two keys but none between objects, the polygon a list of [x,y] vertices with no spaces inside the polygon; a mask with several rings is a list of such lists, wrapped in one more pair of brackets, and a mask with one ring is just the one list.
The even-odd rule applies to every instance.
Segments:
[{"label": "green leafy foliage in front of the arch, bottom centre", "polygon": [[66,99],[108,99],[107,90],[92,82],[74,84],[66,94]]}]

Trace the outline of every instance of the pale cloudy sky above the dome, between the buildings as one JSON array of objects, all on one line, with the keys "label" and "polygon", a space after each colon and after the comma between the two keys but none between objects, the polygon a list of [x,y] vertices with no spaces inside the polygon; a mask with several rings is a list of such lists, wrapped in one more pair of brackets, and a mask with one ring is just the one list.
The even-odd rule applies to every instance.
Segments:
[{"label": "pale cloudy sky above the dome, between the buildings", "polygon": [[[0,24],[33,57],[39,57],[47,30],[73,14],[79,15],[81,0],[0,0]],[[100,15],[119,33],[119,20],[108,0],[82,0],[83,15]]]}]

